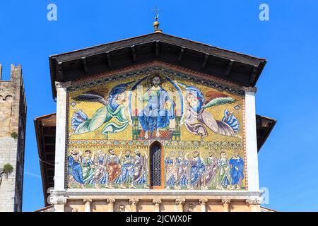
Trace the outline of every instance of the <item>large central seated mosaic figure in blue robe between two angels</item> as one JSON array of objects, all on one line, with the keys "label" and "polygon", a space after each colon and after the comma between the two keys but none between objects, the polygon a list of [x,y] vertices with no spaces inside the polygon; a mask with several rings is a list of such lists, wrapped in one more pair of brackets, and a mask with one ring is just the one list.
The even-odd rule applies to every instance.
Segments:
[{"label": "large central seated mosaic figure in blue robe between two angels", "polygon": [[[160,129],[169,126],[170,119],[175,119],[175,102],[170,99],[167,91],[161,87],[162,79],[159,74],[151,78],[151,88],[141,97],[141,102],[146,106],[139,113],[139,122],[145,131],[145,139],[148,139],[148,131],[160,137]],[[170,102],[170,109],[167,103]]]}]

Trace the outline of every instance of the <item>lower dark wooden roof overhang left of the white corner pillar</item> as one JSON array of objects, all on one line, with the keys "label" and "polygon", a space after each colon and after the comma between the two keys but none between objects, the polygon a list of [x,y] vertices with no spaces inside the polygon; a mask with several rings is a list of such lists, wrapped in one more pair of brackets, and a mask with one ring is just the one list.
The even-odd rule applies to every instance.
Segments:
[{"label": "lower dark wooden roof overhang left of the white corner pillar", "polygon": [[54,187],[56,121],[55,113],[34,119],[45,206],[49,205],[47,189]]}]

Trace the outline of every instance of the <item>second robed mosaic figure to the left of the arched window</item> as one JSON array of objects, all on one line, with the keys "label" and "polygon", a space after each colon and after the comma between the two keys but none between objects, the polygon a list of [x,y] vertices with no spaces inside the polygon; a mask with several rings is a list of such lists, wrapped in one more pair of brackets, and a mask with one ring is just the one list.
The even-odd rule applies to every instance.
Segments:
[{"label": "second robed mosaic figure to the left of the arched window", "polygon": [[132,183],[134,180],[134,157],[131,156],[130,150],[126,150],[124,157],[120,160],[122,165],[122,173],[116,180],[116,184],[120,184],[121,189],[125,189],[126,186],[129,188],[135,188]]}]

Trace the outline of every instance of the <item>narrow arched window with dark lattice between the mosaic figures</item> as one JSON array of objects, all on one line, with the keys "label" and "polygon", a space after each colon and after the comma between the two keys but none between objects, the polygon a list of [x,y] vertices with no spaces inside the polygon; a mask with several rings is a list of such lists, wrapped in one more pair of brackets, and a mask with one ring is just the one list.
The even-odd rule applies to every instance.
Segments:
[{"label": "narrow arched window with dark lattice between the mosaic figures", "polygon": [[163,145],[155,141],[150,146],[151,189],[163,189]]}]

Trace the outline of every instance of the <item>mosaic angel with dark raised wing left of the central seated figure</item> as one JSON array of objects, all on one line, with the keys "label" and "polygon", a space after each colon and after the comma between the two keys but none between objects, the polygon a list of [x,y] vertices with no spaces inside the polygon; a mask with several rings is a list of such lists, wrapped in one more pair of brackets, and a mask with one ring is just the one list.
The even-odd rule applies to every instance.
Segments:
[{"label": "mosaic angel with dark raised wing left of the central seated figure", "polygon": [[[81,110],[75,112],[71,118],[73,134],[95,131],[103,124],[105,124],[105,126],[102,129],[102,134],[106,136],[108,133],[119,133],[124,131],[129,124],[124,106],[126,100],[126,88],[129,84],[130,83],[124,83],[114,86],[107,99],[105,99],[105,95],[103,95],[102,92],[96,90],[90,90],[82,95],[73,97],[73,100],[79,102],[99,102],[104,105],[103,107],[100,107],[90,119]],[[115,121],[110,121],[111,119],[115,119]]]}]

